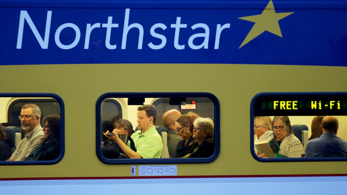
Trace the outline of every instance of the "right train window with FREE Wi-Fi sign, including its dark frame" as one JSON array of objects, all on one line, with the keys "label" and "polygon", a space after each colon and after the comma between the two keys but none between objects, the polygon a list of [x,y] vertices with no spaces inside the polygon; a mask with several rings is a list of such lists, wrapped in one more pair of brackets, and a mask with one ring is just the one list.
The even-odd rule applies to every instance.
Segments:
[{"label": "right train window with FREE Wi-Fi sign, including its dark frame", "polygon": [[[321,120],[328,115],[339,122],[337,134],[332,133],[333,139],[346,142],[346,113],[346,92],[259,93],[251,102],[251,154],[261,162],[346,161],[347,154],[341,150],[329,152],[317,147],[327,141],[317,137],[322,133],[319,131]],[[272,122],[275,116],[277,120]],[[320,121],[314,118],[320,118]],[[266,131],[270,125],[270,131]],[[307,147],[308,139],[312,140]],[[258,157],[255,152],[258,150],[269,158]]]}]

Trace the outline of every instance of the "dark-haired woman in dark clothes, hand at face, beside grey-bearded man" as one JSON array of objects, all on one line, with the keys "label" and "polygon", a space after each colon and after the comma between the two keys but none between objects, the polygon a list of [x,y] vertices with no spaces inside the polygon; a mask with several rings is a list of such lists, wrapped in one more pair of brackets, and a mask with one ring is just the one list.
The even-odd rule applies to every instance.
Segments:
[{"label": "dark-haired woman in dark clothes, hand at face, beside grey-bearded man", "polygon": [[60,154],[60,116],[57,114],[43,118],[43,134],[40,144],[23,160],[54,160]]}]

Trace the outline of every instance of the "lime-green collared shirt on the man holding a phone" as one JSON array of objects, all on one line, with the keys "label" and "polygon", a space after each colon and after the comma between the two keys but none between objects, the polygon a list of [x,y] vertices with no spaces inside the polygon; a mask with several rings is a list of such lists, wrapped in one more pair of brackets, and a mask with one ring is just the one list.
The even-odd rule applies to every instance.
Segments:
[{"label": "lime-green collared shirt on the man holding a phone", "polygon": [[[137,130],[132,134],[137,154],[142,158],[160,158],[163,150],[163,143],[155,126],[149,128],[144,134]],[[128,142],[128,147],[130,144]]]}]

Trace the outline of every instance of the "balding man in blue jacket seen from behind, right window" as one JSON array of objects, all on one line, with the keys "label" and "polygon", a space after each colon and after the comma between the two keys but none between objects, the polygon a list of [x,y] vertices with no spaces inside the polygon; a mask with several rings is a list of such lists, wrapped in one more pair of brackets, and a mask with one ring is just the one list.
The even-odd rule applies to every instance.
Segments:
[{"label": "balding man in blue jacket seen from behind, right window", "polygon": [[323,134],[307,142],[305,157],[347,156],[347,141],[336,136],[338,128],[336,117],[324,117],[321,124]]}]

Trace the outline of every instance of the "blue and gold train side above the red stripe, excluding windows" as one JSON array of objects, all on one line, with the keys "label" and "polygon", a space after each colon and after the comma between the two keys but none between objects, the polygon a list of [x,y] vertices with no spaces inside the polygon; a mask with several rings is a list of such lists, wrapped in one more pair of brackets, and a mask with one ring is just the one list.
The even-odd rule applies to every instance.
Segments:
[{"label": "blue and gold train side above the red stripe, excluding windows", "polygon": [[[61,98],[65,152],[52,165],[1,164],[0,180],[141,179],[140,166],[175,166],[173,178],[346,176],[345,159],[252,155],[254,96],[347,89],[347,4],[334,2],[1,0],[0,95]],[[98,100],[122,93],[213,95],[215,159],[102,162]]]}]

